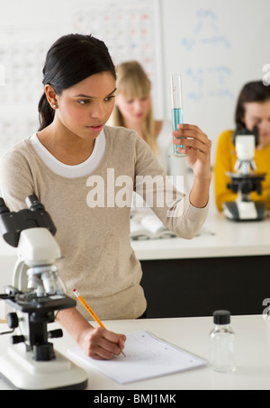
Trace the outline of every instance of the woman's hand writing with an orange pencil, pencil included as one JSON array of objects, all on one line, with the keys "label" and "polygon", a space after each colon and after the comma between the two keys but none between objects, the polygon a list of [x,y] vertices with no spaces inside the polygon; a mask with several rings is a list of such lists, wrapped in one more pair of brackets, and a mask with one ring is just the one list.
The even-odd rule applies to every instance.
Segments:
[{"label": "woman's hand writing with an orange pencil, pencil included", "polygon": [[[125,357],[124,352],[122,351],[124,347],[124,341],[125,341],[125,336],[124,335],[119,335],[116,333],[113,333],[112,331],[107,331],[103,325],[103,322],[99,320],[97,315],[94,313],[94,311],[90,308],[88,304],[86,304],[85,299],[79,295],[79,293],[76,291],[76,289],[73,290],[74,294],[76,295],[76,298],[80,301],[81,304],[85,307],[87,312],[93,317],[94,321],[98,323],[98,325],[104,329],[105,331],[101,332],[99,329],[95,330],[95,339],[93,339],[95,344],[95,348],[99,346],[100,352],[103,351],[111,351],[112,348],[114,349],[114,352],[112,352],[111,358],[113,355],[119,354],[119,349],[121,351],[121,354]],[[116,347],[117,346],[117,347]],[[110,350],[109,350],[110,348]],[[94,357],[94,356],[91,356]],[[94,358],[100,358],[100,357],[94,357]],[[105,358],[105,357],[104,357]],[[106,359],[108,359],[106,357]]]}]

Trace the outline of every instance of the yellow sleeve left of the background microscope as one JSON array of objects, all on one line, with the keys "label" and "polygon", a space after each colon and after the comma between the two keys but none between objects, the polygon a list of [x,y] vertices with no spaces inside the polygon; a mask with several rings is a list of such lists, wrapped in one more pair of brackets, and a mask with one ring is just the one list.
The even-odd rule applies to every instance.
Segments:
[{"label": "yellow sleeve left of the background microscope", "polygon": [[217,145],[214,164],[214,187],[216,205],[219,211],[222,211],[222,204],[225,201],[234,201],[237,198],[237,194],[232,193],[227,187],[230,178],[226,175],[228,171],[234,171],[237,159],[232,136],[233,131],[224,131],[220,134]]}]

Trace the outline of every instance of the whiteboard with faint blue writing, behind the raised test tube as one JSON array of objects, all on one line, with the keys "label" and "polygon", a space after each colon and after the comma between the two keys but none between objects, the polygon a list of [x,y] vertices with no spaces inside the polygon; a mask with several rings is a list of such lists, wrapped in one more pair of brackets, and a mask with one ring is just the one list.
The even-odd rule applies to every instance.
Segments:
[{"label": "whiteboard with faint blue writing, behind the raised test tube", "polygon": [[269,0],[161,0],[166,116],[169,75],[181,73],[184,122],[211,138],[233,129],[238,93],[270,63]]}]

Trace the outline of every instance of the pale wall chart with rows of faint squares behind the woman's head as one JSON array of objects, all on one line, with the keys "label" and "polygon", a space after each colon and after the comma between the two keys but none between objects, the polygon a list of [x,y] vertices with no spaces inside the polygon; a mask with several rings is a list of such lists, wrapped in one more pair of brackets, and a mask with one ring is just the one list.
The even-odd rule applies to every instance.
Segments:
[{"label": "pale wall chart with rows of faint squares behind the woman's head", "polygon": [[37,106],[43,92],[41,71],[46,53],[59,36],[70,32],[92,33],[103,40],[116,66],[125,60],[138,60],[152,82],[156,116],[163,116],[159,0],[57,3],[63,19],[58,26],[46,23],[46,29],[39,30],[37,25],[1,27],[0,23],[0,155],[38,130]]}]

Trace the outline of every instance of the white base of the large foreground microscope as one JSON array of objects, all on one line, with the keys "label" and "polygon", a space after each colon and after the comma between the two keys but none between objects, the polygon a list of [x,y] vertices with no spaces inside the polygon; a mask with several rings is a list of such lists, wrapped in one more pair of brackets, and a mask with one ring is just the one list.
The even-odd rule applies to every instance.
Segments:
[{"label": "white base of the large foreground microscope", "polygon": [[88,376],[58,351],[50,361],[35,361],[31,352],[19,345],[8,348],[0,357],[0,376],[19,390],[83,390]]}]

